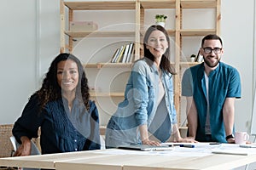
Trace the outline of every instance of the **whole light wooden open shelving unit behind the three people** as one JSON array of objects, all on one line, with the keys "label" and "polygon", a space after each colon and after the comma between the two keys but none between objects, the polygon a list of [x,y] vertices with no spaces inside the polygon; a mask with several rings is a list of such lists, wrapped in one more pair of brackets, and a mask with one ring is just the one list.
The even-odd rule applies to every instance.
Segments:
[{"label": "whole light wooden open shelving unit behind the three people", "polygon": [[[169,35],[174,37],[175,43],[175,61],[174,65],[177,76],[174,77],[174,95],[175,105],[177,109],[177,119],[180,121],[180,101],[181,101],[181,69],[186,66],[197,65],[196,62],[184,62],[181,58],[183,50],[183,37],[203,37],[207,34],[220,34],[220,2],[221,0],[124,0],[124,1],[84,1],[84,2],[67,2],[61,0],[61,48],[60,51],[73,51],[73,39],[76,37],[134,37],[135,42],[135,60],[142,55],[143,45],[142,38],[146,28],[144,28],[144,14],[147,9],[172,9],[175,10],[175,28],[167,30]],[[214,18],[210,19],[214,22],[215,27],[212,29],[183,29],[183,10],[196,8],[213,8],[216,11]],[[132,9],[135,13],[135,31],[70,31],[65,29],[67,23],[73,21],[73,13],[76,10],[94,11],[94,10],[122,10]],[[68,12],[67,12],[68,11]],[[65,13],[68,13],[66,20]],[[154,24],[154,23],[153,23]],[[67,38],[68,37],[68,38]],[[65,40],[68,39],[66,42]],[[130,68],[131,63],[90,63],[84,65],[84,68]],[[91,96],[124,96],[124,93],[103,93],[91,94]]]}]

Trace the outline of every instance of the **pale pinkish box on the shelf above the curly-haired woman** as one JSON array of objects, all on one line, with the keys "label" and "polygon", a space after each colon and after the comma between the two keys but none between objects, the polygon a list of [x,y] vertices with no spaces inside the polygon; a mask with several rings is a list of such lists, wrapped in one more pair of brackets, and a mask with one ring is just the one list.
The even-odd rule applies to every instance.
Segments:
[{"label": "pale pinkish box on the shelf above the curly-haired woman", "polygon": [[98,26],[93,21],[71,21],[70,31],[96,31]]}]

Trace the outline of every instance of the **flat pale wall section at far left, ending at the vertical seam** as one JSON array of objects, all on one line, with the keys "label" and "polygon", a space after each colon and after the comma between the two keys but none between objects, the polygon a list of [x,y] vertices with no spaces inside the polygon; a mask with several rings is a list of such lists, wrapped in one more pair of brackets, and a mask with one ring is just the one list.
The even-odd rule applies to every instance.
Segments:
[{"label": "flat pale wall section at far left, ending at the vertical seam", "polygon": [[2,2],[0,20],[0,123],[12,123],[37,86],[36,1]]}]

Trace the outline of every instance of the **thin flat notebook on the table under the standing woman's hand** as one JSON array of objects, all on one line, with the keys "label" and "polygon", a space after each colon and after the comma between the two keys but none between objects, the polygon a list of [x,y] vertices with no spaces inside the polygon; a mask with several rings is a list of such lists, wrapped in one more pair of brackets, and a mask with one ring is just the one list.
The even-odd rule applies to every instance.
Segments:
[{"label": "thin flat notebook on the table under the standing woman's hand", "polygon": [[170,146],[154,146],[154,145],[120,145],[118,149],[122,150],[141,150],[141,151],[162,151],[162,150],[172,150]]}]

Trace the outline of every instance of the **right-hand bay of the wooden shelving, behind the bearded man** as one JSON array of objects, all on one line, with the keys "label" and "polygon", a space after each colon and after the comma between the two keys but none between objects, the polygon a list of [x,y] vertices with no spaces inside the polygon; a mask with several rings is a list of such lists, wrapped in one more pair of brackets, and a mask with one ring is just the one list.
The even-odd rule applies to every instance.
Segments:
[{"label": "right-hand bay of the wooden shelving, behind the bearded man", "polygon": [[[176,47],[175,56],[175,69],[177,76],[174,77],[174,97],[175,106],[177,109],[177,117],[181,119],[181,78],[182,68],[198,65],[198,62],[186,62],[182,60],[183,50],[183,37],[204,37],[207,34],[220,34],[220,3],[221,0],[176,0],[176,43],[179,44]],[[213,8],[215,10],[215,17],[212,18],[212,22],[215,27],[212,29],[183,29],[183,10],[185,9],[203,9]],[[198,42],[200,43],[200,42]],[[180,121],[179,121],[180,122]]]}]

